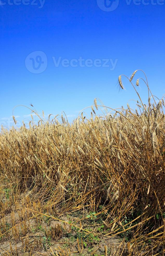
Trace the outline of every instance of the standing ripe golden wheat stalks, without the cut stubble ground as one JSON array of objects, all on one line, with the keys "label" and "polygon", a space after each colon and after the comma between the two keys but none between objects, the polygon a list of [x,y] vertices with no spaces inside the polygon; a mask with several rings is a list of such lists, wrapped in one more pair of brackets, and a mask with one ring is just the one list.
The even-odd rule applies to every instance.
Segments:
[{"label": "standing ripe golden wheat stalks, without the cut stubble ground", "polygon": [[[103,118],[95,99],[89,119],[82,112],[72,124],[62,115],[61,122],[49,116],[29,129],[2,128],[0,170],[16,195],[30,191],[39,212],[96,211],[109,228],[104,235],[127,236],[126,254],[158,255],[165,239],[164,100],[153,97],[147,78],[134,85],[136,72],[130,83],[135,90],[147,86],[148,106],[136,90],[135,110],[106,107]],[[119,85],[124,88],[122,76]],[[2,217],[10,209],[0,204]]]}]

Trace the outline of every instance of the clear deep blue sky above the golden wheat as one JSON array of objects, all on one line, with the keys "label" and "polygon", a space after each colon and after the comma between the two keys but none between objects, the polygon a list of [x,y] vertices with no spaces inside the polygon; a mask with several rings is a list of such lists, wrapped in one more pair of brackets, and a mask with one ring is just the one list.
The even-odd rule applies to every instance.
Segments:
[{"label": "clear deep blue sky above the golden wheat", "polygon": [[[96,97],[112,108],[126,106],[138,98],[126,79],[119,91],[117,79],[136,69],[146,72],[153,94],[165,94],[163,0],[0,2],[1,124],[8,125],[18,104],[32,103],[45,115],[64,111],[70,121]],[[138,92],[147,102],[142,82]],[[19,121],[29,114],[14,110]]]}]

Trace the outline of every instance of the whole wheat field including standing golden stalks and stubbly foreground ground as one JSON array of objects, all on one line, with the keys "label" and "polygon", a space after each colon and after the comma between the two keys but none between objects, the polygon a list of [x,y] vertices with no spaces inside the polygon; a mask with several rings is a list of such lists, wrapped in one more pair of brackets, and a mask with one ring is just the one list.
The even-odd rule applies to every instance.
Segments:
[{"label": "whole wheat field including standing golden stalks and stubbly foreground ground", "polygon": [[148,105],[2,127],[1,255],[165,255],[164,100],[138,72]]}]

